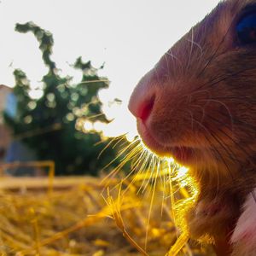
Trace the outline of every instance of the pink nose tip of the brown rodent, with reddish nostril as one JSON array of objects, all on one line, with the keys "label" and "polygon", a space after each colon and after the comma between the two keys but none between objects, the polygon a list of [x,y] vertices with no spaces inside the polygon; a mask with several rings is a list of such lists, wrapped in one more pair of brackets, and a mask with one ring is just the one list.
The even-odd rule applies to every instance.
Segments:
[{"label": "pink nose tip of the brown rodent, with reddish nostril", "polygon": [[129,109],[131,113],[137,118],[142,119],[143,122],[147,121],[152,109],[154,108],[154,98],[155,96],[131,96],[129,102]]}]

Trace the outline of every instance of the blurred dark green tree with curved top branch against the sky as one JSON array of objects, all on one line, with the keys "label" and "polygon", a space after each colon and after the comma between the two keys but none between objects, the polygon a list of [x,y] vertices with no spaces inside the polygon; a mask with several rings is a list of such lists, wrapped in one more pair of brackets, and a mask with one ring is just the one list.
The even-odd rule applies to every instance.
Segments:
[{"label": "blurred dark green tree with curved top branch against the sky", "polygon": [[37,38],[48,73],[42,79],[43,89],[37,90],[42,96],[33,99],[26,73],[15,70],[17,110],[15,117],[5,113],[6,123],[15,137],[36,152],[38,160],[55,160],[56,174],[96,175],[114,159],[115,152],[107,148],[97,160],[108,140],[101,143],[102,134],[84,131],[83,124],[84,121],[108,123],[98,98],[98,91],[108,88],[108,79],[99,77],[98,69],[79,57],[73,68],[81,71],[83,76],[79,84],[72,84],[72,77],[62,76],[51,59],[54,40],[50,32],[32,22],[17,24],[15,30],[32,32]]}]

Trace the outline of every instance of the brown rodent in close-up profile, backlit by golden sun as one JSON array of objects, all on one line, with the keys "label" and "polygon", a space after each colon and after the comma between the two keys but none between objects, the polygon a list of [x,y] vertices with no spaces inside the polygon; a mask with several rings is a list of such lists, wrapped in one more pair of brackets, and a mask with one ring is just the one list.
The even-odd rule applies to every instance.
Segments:
[{"label": "brown rodent in close-up profile, backlit by golden sun", "polygon": [[189,235],[256,255],[256,1],[218,3],[140,80],[129,109],[143,143],[199,183]]}]

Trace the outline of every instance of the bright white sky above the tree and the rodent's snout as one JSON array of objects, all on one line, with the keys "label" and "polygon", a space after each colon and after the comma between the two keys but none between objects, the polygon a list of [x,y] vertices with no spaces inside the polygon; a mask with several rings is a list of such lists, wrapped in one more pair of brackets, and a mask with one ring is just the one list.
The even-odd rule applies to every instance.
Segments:
[{"label": "bright white sky above the tree and the rodent's snout", "polygon": [[[15,32],[15,23],[32,20],[53,33],[53,60],[63,73],[81,79],[68,64],[82,55],[111,81],[102,102],[121,99],[121,108],[104,111],[116,118],[106,133],[120,135],[130,127],[126,105],[137,81],[218,0],[2,0],[0,2],[0,84],[14,86],[13,71],[22,68],[33,86],[45,73],[32,34]],[[125,119],[124,119],[125,117]],[[133,127],[135,127],[133,125]],[[107,131],[108,130],[108,131]]]}]

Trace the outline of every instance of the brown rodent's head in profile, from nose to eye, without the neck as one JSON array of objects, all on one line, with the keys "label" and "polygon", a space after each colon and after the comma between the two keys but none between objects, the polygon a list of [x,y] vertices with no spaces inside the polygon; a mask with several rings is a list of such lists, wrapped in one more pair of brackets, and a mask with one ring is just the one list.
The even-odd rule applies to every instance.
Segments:
[{"label": "brown rodent's head in profile, from nose to eye, without the neck", "polygon": [[143,143],[226,175],[256,154],[256,1],[227,0],[137,84],[129,108]]}]

